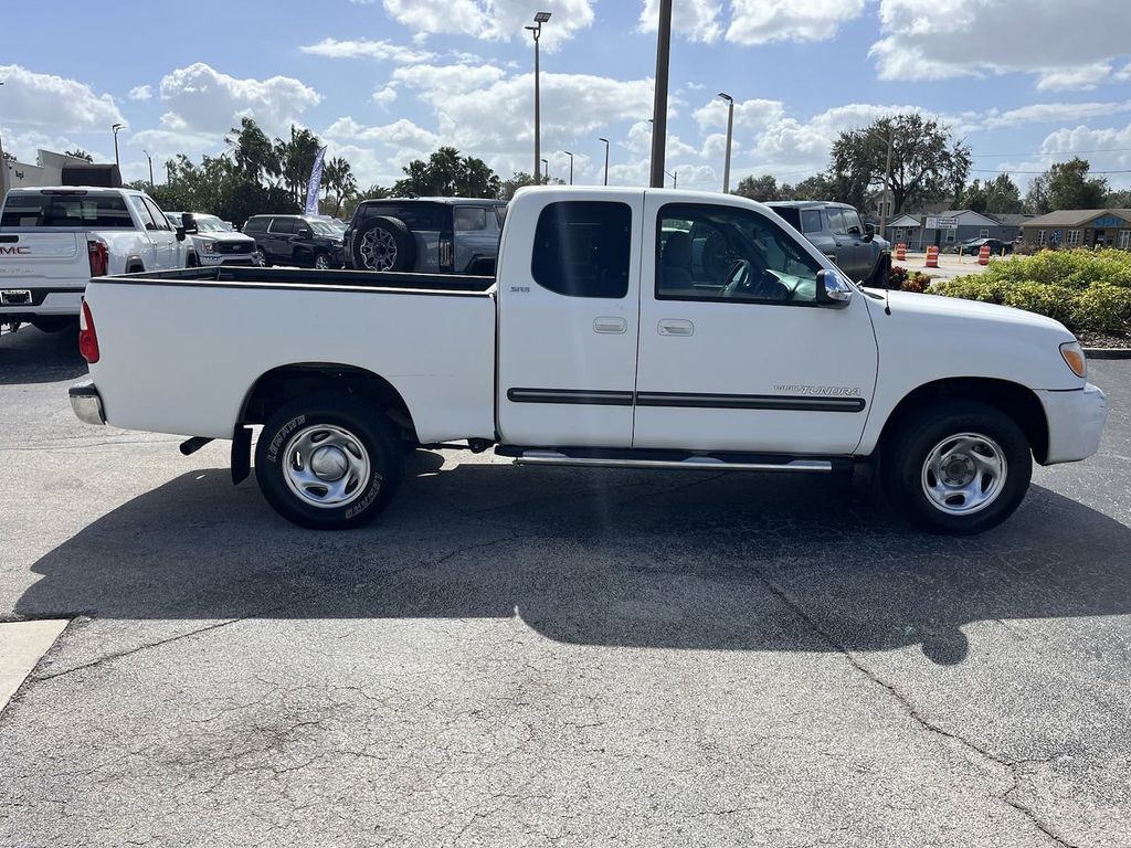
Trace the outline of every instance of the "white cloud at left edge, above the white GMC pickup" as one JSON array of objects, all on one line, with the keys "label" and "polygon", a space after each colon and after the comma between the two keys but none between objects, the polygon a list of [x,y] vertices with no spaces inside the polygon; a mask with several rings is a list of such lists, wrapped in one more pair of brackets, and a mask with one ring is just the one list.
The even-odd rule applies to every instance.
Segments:
[{"label": "white cloud at left edge, above the white GMC pickup", "polygon": [[0,79],[5,80],[2,118],[15,127],[109,131],[110,124],[126,120],[113,97],[95,94],[76,79],[36,73],[19,64],[0,64]]}]

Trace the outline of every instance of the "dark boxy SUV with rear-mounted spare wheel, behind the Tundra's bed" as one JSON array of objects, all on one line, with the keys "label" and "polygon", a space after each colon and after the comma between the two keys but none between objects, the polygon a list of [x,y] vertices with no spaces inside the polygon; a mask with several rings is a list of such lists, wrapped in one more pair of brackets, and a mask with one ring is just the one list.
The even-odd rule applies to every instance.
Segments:
[{"label": "dark boxy SUV with rear-mounted spare wheel, behind the Tundra's bed", "polygon": [[346,265],[370,271],[494,274],[506,215],[500,200],[365,200],[346,231]]}]

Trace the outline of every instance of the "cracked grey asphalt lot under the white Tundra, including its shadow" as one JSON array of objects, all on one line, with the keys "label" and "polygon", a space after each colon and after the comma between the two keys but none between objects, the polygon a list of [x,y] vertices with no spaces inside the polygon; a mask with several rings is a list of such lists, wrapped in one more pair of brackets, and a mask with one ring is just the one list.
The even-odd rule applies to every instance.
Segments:
[{"label": "cracked grey asphalt lot under the white Tundra, including its shadow", "polygon": [[[374,526],[77,422],[0,337],[0,845],[1126,846],[1131,362],[949,539],[831,479],[417,452]],[[159,399],[155,399],[159,403]]]}]

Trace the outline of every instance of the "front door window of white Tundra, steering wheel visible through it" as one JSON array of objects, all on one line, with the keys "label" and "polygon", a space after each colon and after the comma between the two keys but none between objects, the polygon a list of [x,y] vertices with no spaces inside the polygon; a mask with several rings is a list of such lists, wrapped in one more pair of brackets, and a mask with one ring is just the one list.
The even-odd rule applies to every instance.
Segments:
[{"label": "front door window of white Tundra, steering wheel visible through it", "polygon": [[817,300],[820,263],[758,213],[672,204],[661,210],[657,224],[657,300]]}]

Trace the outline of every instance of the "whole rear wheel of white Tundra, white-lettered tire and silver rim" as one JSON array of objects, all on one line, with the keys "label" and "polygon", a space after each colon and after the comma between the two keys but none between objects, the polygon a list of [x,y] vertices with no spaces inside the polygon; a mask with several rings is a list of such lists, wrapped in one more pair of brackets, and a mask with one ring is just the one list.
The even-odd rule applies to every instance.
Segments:
[{"label": "whole rear wheel of white Tundra, white-lettered tire and silver rim", "polygon": [[256,479],[290,521],[316,530],[360,527],[392,500],[404,455],[381,409],[359,398],[296,400],[264,425]]}]

